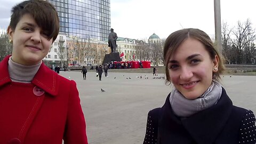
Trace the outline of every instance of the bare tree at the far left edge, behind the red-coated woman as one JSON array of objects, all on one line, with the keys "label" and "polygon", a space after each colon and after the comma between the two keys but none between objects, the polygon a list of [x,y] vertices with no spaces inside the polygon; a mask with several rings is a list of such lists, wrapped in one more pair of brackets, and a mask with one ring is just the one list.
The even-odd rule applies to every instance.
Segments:
[{"label": "bare tree at the far left edge, behind the red-coated woman", "polygon": [[12,53],[12,43],[9,42],[9,36],[7,34],[0,35],[0,61]]}]

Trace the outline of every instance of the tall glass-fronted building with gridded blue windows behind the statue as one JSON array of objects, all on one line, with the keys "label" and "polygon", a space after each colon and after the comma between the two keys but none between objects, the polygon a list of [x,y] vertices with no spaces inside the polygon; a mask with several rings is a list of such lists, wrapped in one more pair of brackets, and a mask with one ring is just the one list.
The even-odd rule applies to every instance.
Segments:
[{"label": "tall glass-fronted building with gridded blue windows behind the statue", "polygon": [[46,0],[60,18],[60,32],[67,36],[105,41],[110,33],[110,0]]}]

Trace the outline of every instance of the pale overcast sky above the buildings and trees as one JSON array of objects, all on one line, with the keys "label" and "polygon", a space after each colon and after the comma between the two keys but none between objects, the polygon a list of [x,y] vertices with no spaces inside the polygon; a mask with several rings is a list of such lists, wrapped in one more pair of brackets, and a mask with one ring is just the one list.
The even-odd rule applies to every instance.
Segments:
[{"label": "pale overcast sky above the buildings and trees", "polygon": [[[14,4],[0,0],[0,29],[6,29]],[[221,0],[221,21],[230,27],[247,18],[256,28],[256,0]],[[182,28],[199,28],[214,36],[214,0],[110,0],[111,27],[119,37],[144,39],[155,33],[166,38]]]}]

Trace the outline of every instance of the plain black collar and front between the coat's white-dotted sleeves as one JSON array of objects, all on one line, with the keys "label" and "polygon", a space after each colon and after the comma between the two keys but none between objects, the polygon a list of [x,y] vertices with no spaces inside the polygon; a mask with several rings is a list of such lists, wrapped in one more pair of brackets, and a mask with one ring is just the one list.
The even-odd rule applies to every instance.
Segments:
[{"label": "plain black collar and front between the coat's white-dotted sleeves", "polygon": [[216,105],[180,120],[174,115],[169,99],[170,94],[159,118],[161,143],[169,140],[173,143],[213,143],[227,123],[233,106],[222,87],[221,98]]}]

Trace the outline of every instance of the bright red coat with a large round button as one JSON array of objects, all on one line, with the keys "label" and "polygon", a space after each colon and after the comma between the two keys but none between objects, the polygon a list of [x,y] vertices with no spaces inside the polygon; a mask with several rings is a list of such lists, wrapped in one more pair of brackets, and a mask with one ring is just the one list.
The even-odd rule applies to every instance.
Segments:
[{"label": "bright red coat with a large round button", "polygon": [[87,144],[76,83],[44,63],[30,84],[12,82],[0,62],[0,143]]}]

